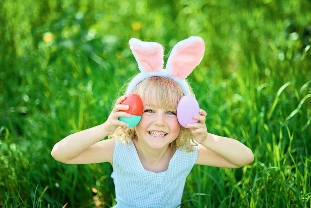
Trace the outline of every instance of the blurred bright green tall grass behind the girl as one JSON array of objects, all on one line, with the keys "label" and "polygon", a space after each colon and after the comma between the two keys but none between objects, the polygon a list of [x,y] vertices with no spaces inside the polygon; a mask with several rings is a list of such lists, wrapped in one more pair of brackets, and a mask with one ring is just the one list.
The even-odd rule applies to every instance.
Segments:
[{"label": "blurred bright green tall grass behind the girl", "polygon": [[207,128],[255,155],[239,169],[195,166],[184,207],[310,207],[311,3],[56,1],[0,4],[0,205],[109,207],[109,164],[66,165],[53,145],[103,123],[138,73],[131,37],[205,40],[189,76]]}]

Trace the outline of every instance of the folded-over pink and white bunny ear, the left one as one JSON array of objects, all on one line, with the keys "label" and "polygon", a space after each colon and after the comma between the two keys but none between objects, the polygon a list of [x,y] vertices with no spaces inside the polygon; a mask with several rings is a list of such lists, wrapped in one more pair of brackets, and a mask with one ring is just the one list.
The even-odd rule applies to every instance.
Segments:
[{"label": "folded-over pink and white bunny ear, the left one", "polygon": [[163,69],[163,47],[156,42],[131,38],[128,42],[141,72],[158,72]]}]

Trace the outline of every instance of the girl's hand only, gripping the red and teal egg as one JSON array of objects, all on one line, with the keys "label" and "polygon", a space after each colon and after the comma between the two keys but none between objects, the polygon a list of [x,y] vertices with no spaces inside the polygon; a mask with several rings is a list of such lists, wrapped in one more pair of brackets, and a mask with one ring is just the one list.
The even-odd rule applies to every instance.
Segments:
[{"label": "girl's hand only, gripping the red and teal egg", "polygon": [[110,113],[107,121],[104,123],[104,130],[108,135],[114,133],[114,131],[118,128],[118,126],[128,127],[128,124],[120,121],[119,117],[130,117],[131,114],[120,111],[120,110],[128,110],[128,105],[121,105],[120,103],[125,99],[125,95],[118,98],[112,112]]}]

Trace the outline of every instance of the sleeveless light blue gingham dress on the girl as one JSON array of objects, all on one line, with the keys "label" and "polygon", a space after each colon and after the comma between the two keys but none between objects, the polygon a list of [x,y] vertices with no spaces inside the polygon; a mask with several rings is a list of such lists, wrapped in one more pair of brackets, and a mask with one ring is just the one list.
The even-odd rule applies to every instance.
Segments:
[{"label": "sleeveless light blue gingham dress on the girl", "polygon": [[165,172],[147,171],[132,140],[114,145],[113,173],[117,204],[114,208],[177,207],[181,203],[186,177],[197,159],[193,152],[177,149]]}]

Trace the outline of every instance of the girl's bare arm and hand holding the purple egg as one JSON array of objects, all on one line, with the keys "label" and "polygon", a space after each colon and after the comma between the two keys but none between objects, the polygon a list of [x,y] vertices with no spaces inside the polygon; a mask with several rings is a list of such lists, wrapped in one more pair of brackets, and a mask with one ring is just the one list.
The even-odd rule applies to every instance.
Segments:
[{"label": "girl's bare arm and hand holding the purple egg", "polygon": [[193,119],[199,122],[188,124],[192,135],[199,143],[199,153],[195,164],[240,168],[253,162],[253,152],[238,140],[207,133],[206,115],[207,113],[200,109],[200,116],[193,116]]}]

